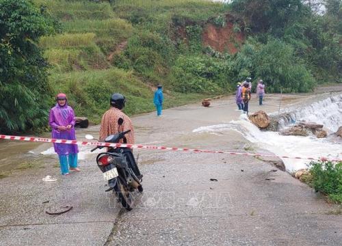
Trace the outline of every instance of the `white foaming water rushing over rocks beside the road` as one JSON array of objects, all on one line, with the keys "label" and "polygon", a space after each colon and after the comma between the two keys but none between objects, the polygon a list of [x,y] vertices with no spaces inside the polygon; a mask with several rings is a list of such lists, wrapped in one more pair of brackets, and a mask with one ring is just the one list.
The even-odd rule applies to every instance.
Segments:
[{"label": "white foaming water rushing over rocks beside the road", "polygon": [[[342,94],[333,96],[322,95],[323,99],[309,103],[302,107],[289,107],[281,111],[287,113],[281,118],[280,130],[292,127],[295,122],[315,122],[324,125],[324,129],[330,133],[326,139],[318,139],[315,136],[284,136],[278,132],[260,131],[254,126],[246,115],[242,114],[239,120],[232,120],[228,124],[218,124],[196,128],[195,133],[217,133],[234,130],[246,137],[248,141],[259,148],[269,150],[278,156],[300,156],[330,159],[342,159],[342,141],[334,133],[342,126]],[[273,113],[277,115],[278,113]],[[282,159],[289,172],[306,168],[310,161],[297,159]]]}]

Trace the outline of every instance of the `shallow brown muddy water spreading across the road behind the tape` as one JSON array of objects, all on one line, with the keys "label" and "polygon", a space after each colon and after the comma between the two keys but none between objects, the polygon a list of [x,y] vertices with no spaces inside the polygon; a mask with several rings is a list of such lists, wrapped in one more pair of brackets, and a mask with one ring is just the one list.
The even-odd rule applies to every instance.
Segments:
[{"label": "shallow brown muddy water spreading across the road behind the tape", "polygon": [[[341,88],[340,88],[341,89]],[[258,105],[255,94],[250,101],[250,112],[263,110],[277,113],[285,107],[300,107],[327,96],[326,94],[267,94],[263,106]],[[241,115],[236,111],[235,97],[227,96],[212,100],[210,107],[202,107],[200,102],[163,111],[161,117],[155,113],[136,115],[132,118],[135,126],[136,143],[158,146],[202,148],[209,150],[246,150],[248,141],[235,130],[215,131],[215,133],[194,133],[201,126],[227,124],[238,120]],[[86,134],[98,137],[99,126],[77,129],[77,139],[84,140]],[[39,137],[49,137],[46,133]],[[248,147],[247,147],[248,148]],[[79,159],[90,159],[90,147],[80,146]],[[42,165],[57,165],[57,155],[50,143],[31,143],[23,141],[0,141],[0,171],[13,169],[22,163],[34,161]]]}]

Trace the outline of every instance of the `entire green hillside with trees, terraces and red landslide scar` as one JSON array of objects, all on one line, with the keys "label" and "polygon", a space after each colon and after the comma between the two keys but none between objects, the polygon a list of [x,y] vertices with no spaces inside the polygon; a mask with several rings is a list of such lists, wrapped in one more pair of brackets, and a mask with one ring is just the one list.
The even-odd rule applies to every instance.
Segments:
[{"label": "entire green hillside with trees, terraces and red landslide scar", "polygon": [[[1,131],[46,125],[58,92],[68,94],[77,115],[98,123],[113,92],[127,96],[128,114],[153,111],[158,83],[166,107],[232,93],[246,77],[254,86],[263,79],[267,92],[310,92],[319,83],[341,83],[342,3],[324,4],[326,12],[317,14],[300,0],[0,0],[6,13],[0,14],[0,55],[6,61],[0,59],[0,99],[6,102]],[[34,17],[42,26],[30,27],[40,31],[27,36],[20,25],[32,22],[13,29],[13,18],[33,13],[42,15]],[[18,32],[16,42],[8,31]],[[39,52],[34,61],[23,54],[21,40],[32,47],[25,52],[38,44],[47,70]],[[25,71],[39,75],[25,77]],[[12,105],[18,107],[14,112]]]}]

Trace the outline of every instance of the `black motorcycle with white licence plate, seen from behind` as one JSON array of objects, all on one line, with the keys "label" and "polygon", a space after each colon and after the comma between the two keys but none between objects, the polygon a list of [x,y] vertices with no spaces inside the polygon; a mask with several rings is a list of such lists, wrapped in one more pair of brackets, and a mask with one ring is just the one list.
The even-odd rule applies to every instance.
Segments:
[{"label": "black motorcycle with white licence plate, seen from behind", "polygon": [[[119,118],[118,124],[122,125],[123,120]],[[131,130],[109,135],[105,138],[106,143],[118,143],[123,139],[127,143],[125,134]],[[87,139],[94,139],[92,135],[86,135]],[[105,146],[96,146],[96,149],[108,148]],[[109,189],[106,191],[114,191],[122,206],[127,210],[132,210],[133,197],[132,192],[137,190],[142,193],[142,174],[137,167],[132,150],[125,147],[109,147],[107,152],[102,152],[96,156],[98,168],[103,172],[103,178],[108,182]]]}]

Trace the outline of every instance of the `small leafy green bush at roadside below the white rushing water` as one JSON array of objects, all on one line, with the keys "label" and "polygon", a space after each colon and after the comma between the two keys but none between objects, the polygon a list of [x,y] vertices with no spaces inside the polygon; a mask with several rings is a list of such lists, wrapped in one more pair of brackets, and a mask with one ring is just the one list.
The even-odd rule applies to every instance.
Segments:
[{"label": "small leafy green bush at roadside below the white rushing water", "polygon": [[313,176],[312,186],[316,191],[328,195],[337,203],[342,203],[342,162],[311,162],[310,172]]}]

